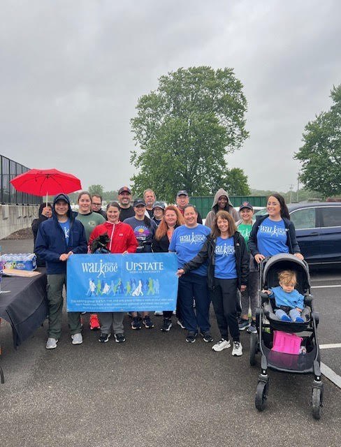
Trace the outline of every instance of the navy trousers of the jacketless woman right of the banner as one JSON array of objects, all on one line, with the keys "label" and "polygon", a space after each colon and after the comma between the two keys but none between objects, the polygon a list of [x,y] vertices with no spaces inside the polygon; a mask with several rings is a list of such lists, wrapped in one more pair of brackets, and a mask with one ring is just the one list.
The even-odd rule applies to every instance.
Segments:
[{"label": "navy trousers of the jacketless woman right of the banner", "polygon": [[[208,294],[207,277],[200,274],[186,273],[179,278],[179,312],[184,327],[197,332],[210,330],[210,297]],[[193,308],[193,298],[196,302],[196,312]]]}]

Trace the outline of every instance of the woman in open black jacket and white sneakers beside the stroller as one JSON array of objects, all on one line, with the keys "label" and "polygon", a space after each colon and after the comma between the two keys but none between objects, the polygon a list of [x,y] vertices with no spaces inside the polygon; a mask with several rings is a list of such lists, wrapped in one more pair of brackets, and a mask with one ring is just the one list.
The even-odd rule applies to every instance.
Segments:
[{"label": "woman in open black jacket and white sneakers beside the stroller", "polygon": [[228,330],[233,339],[233,356],[242,355],[237,311],[240,308],[238,288],[245,291],[249,275],[249,254],[244,237],[240,235],[231,214],[219,211],[215,216],[212,233],[208,235],[198,255],[184,268],[177,270],[181,276],[198,268],[208,259],[208,288],[222,338],[212,349],[222,351],[231,346]]}]

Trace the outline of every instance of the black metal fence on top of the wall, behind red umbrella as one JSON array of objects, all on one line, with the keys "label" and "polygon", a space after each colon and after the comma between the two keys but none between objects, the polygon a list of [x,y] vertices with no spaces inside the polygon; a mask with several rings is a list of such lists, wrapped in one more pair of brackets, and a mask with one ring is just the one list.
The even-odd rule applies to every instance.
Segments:
[{"label": "black metal fence on top of the wall, behind red umbrella", "polygon": [[42,198],[32,194],[20,193],[10,183],[19,174],[26,173],[29,170],[16,161],[0,155],[0,203],[13,203],[14,205],[33,205],[41,203]]}]

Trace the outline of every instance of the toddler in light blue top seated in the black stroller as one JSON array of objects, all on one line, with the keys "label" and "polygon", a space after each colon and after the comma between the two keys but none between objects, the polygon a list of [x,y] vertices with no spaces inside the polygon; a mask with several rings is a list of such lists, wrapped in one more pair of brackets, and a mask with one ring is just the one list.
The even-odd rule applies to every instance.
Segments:
[{"label": "toddler in light blue top seated in the black stroller", "polygon": [[296,272],[283,270],[278,274],[278,282],[280,286],[263,291],[269,295],[269,298],[275,298],[275,315],[282,321],[304,323],[301,317],[304,297],[295,288],[297,284]]}]

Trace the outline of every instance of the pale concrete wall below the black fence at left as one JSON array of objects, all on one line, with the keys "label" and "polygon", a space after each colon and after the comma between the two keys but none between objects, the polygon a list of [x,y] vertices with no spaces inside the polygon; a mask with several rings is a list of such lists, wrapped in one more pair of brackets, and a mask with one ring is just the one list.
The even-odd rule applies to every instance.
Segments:
[{"label": "pale concrete wall below the black fence at left", "polygon": [[0,239],[22,228],[31,227],[39,205],[0,205]]}]

